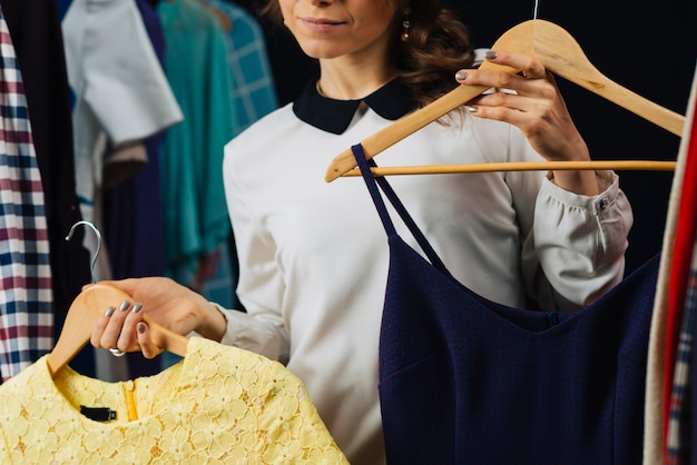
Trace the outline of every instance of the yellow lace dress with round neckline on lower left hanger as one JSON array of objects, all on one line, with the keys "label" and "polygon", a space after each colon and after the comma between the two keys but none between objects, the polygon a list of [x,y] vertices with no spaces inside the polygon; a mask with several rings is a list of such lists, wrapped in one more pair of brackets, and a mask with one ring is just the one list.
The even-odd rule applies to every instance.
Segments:
[{"label": "yellow lace dress with round neckline on lower left hanger", "polygon": [[46,358],[0,386],[2,464],[347,463],[302,382],[256,354],[195,337],[124,383],[51,378]]}]

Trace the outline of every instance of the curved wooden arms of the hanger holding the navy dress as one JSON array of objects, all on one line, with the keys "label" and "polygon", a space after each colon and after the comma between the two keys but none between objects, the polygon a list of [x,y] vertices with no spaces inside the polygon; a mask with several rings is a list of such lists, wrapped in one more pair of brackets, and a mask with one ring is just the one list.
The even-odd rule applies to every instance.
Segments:
[{"label": "curved wooden arms of the hanger holding the navy dress", "polygon": [[[505,31],[492,46],[492,49],[524,53],[534,57],[549,71],[568,79],[585,89],[654,122],[655,125],[681,136],[685,117],[626,89],[603,76],[589,61],[576,39],[561,27],[540,19],[521,22]],[[480,69],[502,70],[517,73],[519,70],[484,61]],[[461,85],[434,102],[393,122],[361,142],[367,159],[392,147],[424,126],[441,118],[449,111],[470,101],[488,90],[485,86]],[[341,152],[330,165],[325,180],[327,182],[355,168],[351,149]],[[420,174],[419,167],[408,167],[410,174]],[[445,169],[444,167],[438,167]],[[424,169],[432,169],[424,167]],[[581,169],[581,168],[575,168]],[[582,168],[595,169],[595,168]],[[449,171],[452,172],[452,171]]]}]

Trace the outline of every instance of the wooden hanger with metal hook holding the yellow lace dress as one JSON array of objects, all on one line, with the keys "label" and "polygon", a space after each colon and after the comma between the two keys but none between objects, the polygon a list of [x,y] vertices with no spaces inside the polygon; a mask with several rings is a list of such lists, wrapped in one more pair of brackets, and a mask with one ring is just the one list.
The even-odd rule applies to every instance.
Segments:
[{"label": "wooden hanger with metal hook holding the yellow lace dress", "polygon": [[[51,376],[55,376],[65,367],[89,342],[92,328],[104,311],[110,306],[118,307],[121,301],[130,300],[130,296],[122,290],[101,284],[95,284],[95,261],[101,248],[101,236],[97,228],[89,221],[78,221],[70,229],[66,237],[72,237],[75,228],[79,225],[90,226],[97,234],[97,251],[91,260],[92,285],[82,290],[70,305],[63,328],[58,337],[56,346],[48,355],[48,367]],[[153,342],[160,348],[177,354],[181,357],[186,355],[188,339],[185,336],[173,333],[153,321],[147,315],[143,320],[148,325]]]}]

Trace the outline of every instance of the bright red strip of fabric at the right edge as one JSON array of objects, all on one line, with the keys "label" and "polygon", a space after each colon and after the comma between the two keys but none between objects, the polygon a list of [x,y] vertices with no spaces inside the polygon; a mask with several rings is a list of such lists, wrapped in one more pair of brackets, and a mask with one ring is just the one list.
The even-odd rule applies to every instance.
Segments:
[{"label": "bright red strip of fabric at the right edge", "polygon": [[695,230],[697,225],[697,118],[693,117],[691,127],[687,136],[687,160],[680,204],[677,216],[675,248],[668,281],[668,318],[666,329],[666,368],[664,382],[664,448],[668,432],[670,415],[670,396],[673,392],[673,375],[675,372],[675,357],[678,347],[680,323],[687,279],[689,277],[693,248],[695,245]]}]

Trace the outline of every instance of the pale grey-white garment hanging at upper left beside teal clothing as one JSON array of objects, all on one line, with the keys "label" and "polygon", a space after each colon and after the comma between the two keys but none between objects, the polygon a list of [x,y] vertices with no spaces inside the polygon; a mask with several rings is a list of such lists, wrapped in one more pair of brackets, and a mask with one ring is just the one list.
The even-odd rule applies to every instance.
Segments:
[{"label": "pale grey-white garment hanging at upper left beside teal clothing", "polygon": [[[137,144],[180,122],[167,78],[134,0],[73,0],[62,20],[66,63],[76,102],[72,112],[75,166],[80,209],[86,220],[102,187],[104,149]],[[147,160],[128,160],[130,174]],[[121,178],[125,175],[121,174]],[[99,222],[99,221],[95,221]]]}]

